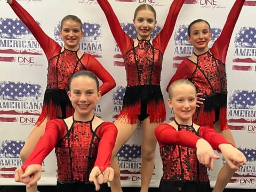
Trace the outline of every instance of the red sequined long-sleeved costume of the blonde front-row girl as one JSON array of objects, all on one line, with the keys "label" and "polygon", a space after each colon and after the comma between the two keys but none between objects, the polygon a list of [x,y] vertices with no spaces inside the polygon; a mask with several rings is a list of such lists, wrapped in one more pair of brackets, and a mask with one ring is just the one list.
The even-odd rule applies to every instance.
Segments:
[{"label": "red sequined long-sleeved costume of the blonde front-row girl", "polygon": [[197,160],[196,142],[202,137],[213,149],[228,142],[210,127],[199,127],[196,131],[193,124],[177,125],[178,131],[169,124],[158,125],[155,130],[163,163],[159,189],[161,192],[209,192],[207,169]]}]

